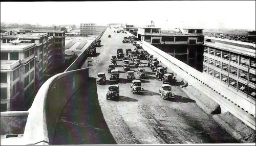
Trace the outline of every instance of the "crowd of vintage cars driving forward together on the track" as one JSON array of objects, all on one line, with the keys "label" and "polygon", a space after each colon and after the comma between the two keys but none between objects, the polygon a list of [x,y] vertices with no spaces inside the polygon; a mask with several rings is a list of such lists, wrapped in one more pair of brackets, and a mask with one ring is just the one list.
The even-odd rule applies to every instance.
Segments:
[{"label": "crowd of vintage cars driving forward together on the track", "polygon": [[[135,78],[135,72],[133,70],[130,70],[130,63],[129,58],[133,62],[133,64],[138,67],[137,76],[138,78],[144,78],[146,79],[147,75],[145,72],[145,66],[140,63],[141,60],[147,60],[148,61],[148,67],[152,69],[153,72],[163,72],[163,77],[161,78],[163,80],[163,83],[160,86],[159,93],[163,99],[167,98],[174,98],[174,93],[172,92],[172,86],[171,84],[173,80],[175,79],[174,75],[171,73],[167,73],[167,67],[163,67],[159,65],[159,61],[157,58],[154,58],[153,55],[148,54],[146,51],[141,51],[139,53],[138,46],[136,45],[136,48],[132,51],[132,49],[128,48],[125,50],[125,55],[123,54],[123,50],[119,48],[117,50],[117,55],[113,55],[111,57],[111,64],[108,67],[108,72],[111,74],[110,81],[119,81],[119,70],[115,67],[117,66],[117,59],[122,59],[123,69],[124,71],[127,71],[126,78],[128,81],[132,81],[132,84],[130,85],[130,89],[133,93],[140,93],[143,92],[144,89],[141,86],[141,81]],[[129,57],[129,58],[128,58]],[[97,83],[105,83],[106,78],[104,72],[99,72],[97,77]],[[165,84],[168,83],[168,84]],[[106,99],[117,99],[119,97],[119,86],[118,85],[110,85],[109,90],[106,93]]]}]

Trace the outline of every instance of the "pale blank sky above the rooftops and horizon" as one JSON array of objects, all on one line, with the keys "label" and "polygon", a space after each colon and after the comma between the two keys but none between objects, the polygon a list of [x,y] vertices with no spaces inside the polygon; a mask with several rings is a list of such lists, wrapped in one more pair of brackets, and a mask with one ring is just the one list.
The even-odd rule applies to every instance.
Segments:
[{"label": "pale blank sky above the rooftops and horizon", "polygon": [[1,2],[1,22],[255,30],[255,1]]}]

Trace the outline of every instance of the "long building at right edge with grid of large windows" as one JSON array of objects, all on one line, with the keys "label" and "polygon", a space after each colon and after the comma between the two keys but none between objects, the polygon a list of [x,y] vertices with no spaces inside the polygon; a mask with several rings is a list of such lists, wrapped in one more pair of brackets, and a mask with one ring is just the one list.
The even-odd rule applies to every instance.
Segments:
[{"label": "long building at right edge with grid of large windows", "polygon": [[255,103],[255,44],[205,37],[203,72]]}]

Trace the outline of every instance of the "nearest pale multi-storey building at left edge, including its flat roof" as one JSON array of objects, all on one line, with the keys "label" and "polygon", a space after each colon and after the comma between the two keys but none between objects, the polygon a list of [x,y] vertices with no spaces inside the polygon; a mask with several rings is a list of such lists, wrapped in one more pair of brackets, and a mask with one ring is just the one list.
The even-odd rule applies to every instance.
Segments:
[{"label": "nearest pale multi-storey building at left edge, including its flat roof", "polygon": [[[35,43],[1,42],[1,111],[20,110],[35,89]],[[24,106],[24,105],[23,105]]]}]

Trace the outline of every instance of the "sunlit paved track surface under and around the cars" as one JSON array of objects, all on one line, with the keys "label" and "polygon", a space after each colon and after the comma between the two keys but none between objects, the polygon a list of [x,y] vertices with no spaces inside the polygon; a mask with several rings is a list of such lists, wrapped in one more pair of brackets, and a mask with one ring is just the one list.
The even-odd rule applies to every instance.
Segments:
[{"label": "sunlit paved track surface under and around the cars", "polygon": [[[107,85],[97,85],[98,100],[109,129],[118,144],[134,143],[237,143],[212,118],[202,111],[178,86],[172,86],[176,94],[174,100],[163,100],[159,93],[161,81],[146,67],[147,79],[143,79],[143,94],[133,94],[131,82],[126,80],[122,62],[117,62],[120,70],[118,83],[120,98],[106,100],[110,85],[107,68],[111,55],[117,48],[135,48],[131,43],[122,43],[125,33],[114,33],[107,29],[101,37],[103,46],[97,47],[97,56],[90,57],[90,77],[96,78],[98,72],[105,72]],[[111,38],[108,38],[111,35]],[[87,61],[83,67],[87,67]],[[146,63],[143,60],[143,63]],[[146,65],[146,64],[145,64]],[[132,70],[137,68],[132,66]],[[137,78],[137,77],[136,77]]]}]

